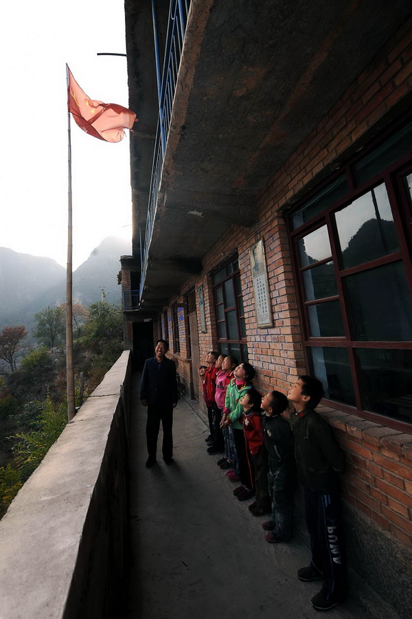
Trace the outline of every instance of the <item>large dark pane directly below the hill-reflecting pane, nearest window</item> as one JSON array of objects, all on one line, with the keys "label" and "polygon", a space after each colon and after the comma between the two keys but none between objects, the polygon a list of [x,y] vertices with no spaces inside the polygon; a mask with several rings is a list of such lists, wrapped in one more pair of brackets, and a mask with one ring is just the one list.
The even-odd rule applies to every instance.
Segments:
[{"label": "large dark pane directly below the hill-reflecting pane, nearest window", "polygon": [[401,261],[345,277],[355,340],[412,340],[412,303]]}]

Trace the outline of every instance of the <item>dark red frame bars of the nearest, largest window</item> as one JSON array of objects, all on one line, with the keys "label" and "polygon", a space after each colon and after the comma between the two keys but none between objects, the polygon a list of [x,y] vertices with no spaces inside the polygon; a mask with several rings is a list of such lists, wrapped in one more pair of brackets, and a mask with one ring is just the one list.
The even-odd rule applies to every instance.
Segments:
[{"label": "dark red frame bars of the nearest, largest window", "polygon": [[[367,149],[363,150],[362,153],[358,153],[350,160],[348,160],[347,163],[342,166],[338,171],[336,171],[333,175],[328,176],[321,184],[319,184],[312,191],[310,191],[310,193],[306,194],[303,199],[301,199],[296,205],[294,205],[293,208],[290,208],[287,213],[285,213],[285,219],[286,228],[288,230],[290,253],[292,257],[293,276],[295,279],[295,283],[297,284],[297,309],[299,314],[299,322],[301,324],[302,345],[304,348],[306,367],[312,367],[312,363],[308,355],[308,349],[310,349],[311,347],[345,348],[347,349],[349,357],[350,373],[354,388],[355,406],[350,406],[349,404],[337,402],[336,400],[329,400],[327,398],[324,398],[323,402],[335,409],[339,409],[351,414],[356,414],[358,416],[364,417],[366,420],[371,420],[373,422],[383,424],[385,426],[395,428],[410,434],[412,433],[412,422],[404,422],[402,420],[393,419],[389,416],[381,415],[380,413],[365,411],[365,409],[363,409],[362,402],[363,400],[365,400],[365,394],[361,392],[361,373],[358,367],[358,360],[356,359],[356,349],[369,348],[411,350],[412,341],[404,340],[403,342],[393,342],[364,341],[353,339],[352,327],[350,325],[349,300],[347,298],[344,285],[344,279],[347,276],[356,273],[367,272],[368,270],[378,268],[382,265],[402,261],[407,281],[407,287],[409,290],[409,294],[412,298],[412,204],[409,203],[407,188],[405,187],[403,182],[404,177],[412,173],[412,147],[408,155],[402,156],[396,162],[393,162],[393,164],[387,166],[387,168],[383,169],[379,173],[376,173],[366,182],[363,182],[363,184],[356,185],[354,175],[354,165],[365,155],[373,151],[376,146],[378,146],[381,142],[384,142],[387,138],[389,138],[391,134],[393,134],[399,129],[402,129],[402,124],[404,124],[404,122],[405,121],[403,119],[402,122],[392,124],[391,128],[387,129],[384,133],[381,133],[378,138],[373,140],[373,142],[368,145]],[[299,210],[299,208],[301,208],[306,202],[310,201],[310,199],[314,197],[314,195],[322,191],[322,188],[324,186],[332,183],[343,173],[346,175],[347,178],[347,195],[345,195],[345,197],[343,197],[339,201],[334,202],[331,206],[328,206],[328,208],[325,208],[321,213],[314,215],[312,219],[308,220],[305,224],[302,224],[301,226],[296,228],[296,230],[294,230],[291,221],[293,213],[296,210]],[[354,202],[354,200],[356,200],[358,197],[361,197],[362,195],[365,195],[366,193],[371,191],[371,189],[375,188],[376,186],[378,186],[378,184],[382,182],[385,183],[385,187],[387,190],[389,205],[391,207],[391,213],[393,215],[393,225],[399,243],[399,250],[396,252],[392,252],[391,254],[387,254],[383,257],[373,259],[366,263],[361,263],[350,268],[342,268],[342,265],[339,262],[338,230],[336,227],[336,220],[333,215],[337,211],[345,208],[345,206],[347,206],[351,202]],[[327,226],[332,257],[323,259],[317,263],[312,263],[310,265],[301,267],[297,241],[303,237],[306,237],[308,234],[310,234],[310,232],[321,228],[321,226],[323,225]],[[334,265],[334,275],[336,277],[336,288],[338,291],[338,295],[328,298],[314,299],[313,301],[306,301],[303,272],[305,270],[309,270],[310,268],[314,268],[314,266],[318,266],[322,263],[327,263],[330,261],[332,261]],[[326,303],[328,301],[336,300],[338,298],[341,306],[341,314],[345,335],[336,337],[311,336],[309,331],[310,325],[307,311],[308,306],[314,305],[316,303]]]}]

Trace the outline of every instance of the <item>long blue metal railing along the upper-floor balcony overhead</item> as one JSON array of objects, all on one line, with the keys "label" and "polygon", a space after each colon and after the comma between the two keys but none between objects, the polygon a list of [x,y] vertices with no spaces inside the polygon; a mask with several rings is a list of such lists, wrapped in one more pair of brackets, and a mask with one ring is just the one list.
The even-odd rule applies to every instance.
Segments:
[{"label": "long blue metal railing along the upper-floor balcony overhead", "polygon": [[163,62],[163,72],[161,73],[159,45],[157,43],[156,8],[155,0],[152,0],[153,31],[155,34],[155,55],[159,94],[159,119],[157,121],[155,153],[153,157],[152,177],[150,180],[146,232],[144,237],[144,246],[143,249],[141,249],[140,298],[143,293],[146,271],[148,268],[148,251],[150,240],[152,239],[153,223],[155,221],[157,197],[159,195],[159,185],[161,180],[161,169],[165,156],[170,121],[172,119],[173,98],[176,90],[177,76],[179,73],[189,7],[190,0],[171,0],[170,2],[165,58]]}]

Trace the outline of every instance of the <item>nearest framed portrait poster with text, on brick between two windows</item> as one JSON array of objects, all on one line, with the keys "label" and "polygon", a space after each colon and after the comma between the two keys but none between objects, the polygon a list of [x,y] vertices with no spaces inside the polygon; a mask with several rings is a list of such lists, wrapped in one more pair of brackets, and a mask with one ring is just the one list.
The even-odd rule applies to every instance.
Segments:
[{"label": "nearest framed portrait poster with text, on brick between two windows", "polygon": [[253,294],[255,296],[256,324],[258,327],[271,327],[273,316],[269,296],[268,274],[264,255],[263,239],[249,248]]}]

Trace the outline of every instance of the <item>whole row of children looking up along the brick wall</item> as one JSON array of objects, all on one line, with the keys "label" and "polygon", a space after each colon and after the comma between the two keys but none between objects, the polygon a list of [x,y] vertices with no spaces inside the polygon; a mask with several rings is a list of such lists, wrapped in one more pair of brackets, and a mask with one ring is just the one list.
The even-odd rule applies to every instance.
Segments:
[{"label": "whole row of children looking up along the brick wall", "polygon": [[[249,363],[236,366],[233,356],[222,358],[214,352],[206,362],[203,394],[209,417],[208,453],[225,452],[218,466],[229,469],[229,479],[240,479],[241,485],[233,490],[239,501],[255,496],[249,505],[253,516],[271,514],[262,523],[268,543],[292,539],[297,470],[304,486],[312,551],[310,565],[298,569],[297,576],[304,581],[324,579],[321,591],[310,602],[319,611],[333,608],[346,596],[336,475],[345,465],[330,426],[314,411],[323,396],[321,382],[300,376],[288,398],[279,391],[269,391],[262,398],[253,389],[255,370]],[[282,416],[288,400],[295,407],[290,423]]]}]

